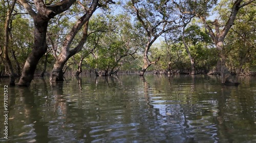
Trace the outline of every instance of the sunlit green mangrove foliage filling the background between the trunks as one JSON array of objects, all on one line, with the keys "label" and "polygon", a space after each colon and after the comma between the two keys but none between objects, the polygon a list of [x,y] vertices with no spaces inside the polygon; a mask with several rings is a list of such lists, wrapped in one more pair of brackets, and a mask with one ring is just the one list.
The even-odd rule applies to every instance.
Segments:
[{"label": "sunlit green mangrove foliage filling the background between the trunks", "polygon": [[[53,1],[55,4],[59,1]],[[91,1],[80,1],[85,7]],[[83,56],[84,69],[112,70],[121,71],[139,71],[143,66],[144,47],[148,39],[152,42],[154,37],[159,37],[162,30],[170,29],[166,35],[166,42],[153,44],[148,52],[151,61],[155,61],[160,56],[156,65],[148,68],[149,71],[159,70],[167,71],[168,64],[174,72],[186,73],[190,69],[189,57],[180,38],[180,29],[178,20],[175,19],[191,18],[193,15],[189,12],[195,12],[203,16],[208,16],[215,12],[219,17],[220,25],[228,20],[227,11],[230,11],[233,1],[223,0],[218,3],[211,1],[134,1],[135,7],[140,11],[140,17],[144,21],[141,23],[132,7],[131,1],[119,1],[117,5],[109,7],[106,5],[110,1],[100,1],[100,5],[105,5],[103,10],[94,14],[89,21],[89,37],[82,50],[75,54],[69,61],[70,70],[76,70],[78,62]],[[127,3],[126,3],[127,2]],[[175,2],[175,3],[174,3]],[[2,3],[6,3],[3,1]],[[46,1],[46,4],[50,1]],[[125,3],[125,4],[123,4]],[[125,8],[125,12],[120,11],[119,6]],[[217,6],[216,6],[217,5]],[[179,7],[178,7],[179,6]],[[214,10],[213,10],[214,9]],[[123,10],[123,9],[122,9]],[[7,5],[0,5],[0,46],[4,43],[4,23]],[[182,11],[183,13],[181,14]],[[16,6],[15,12],[24,12],[24,9]],[[186,14],[184,12],[187,12]],[[50,20],[48,26],[48,68],[51,71],[54,64],[54,54],[52,49],[56,50],[59,56],[61,46],[75,20],[84,14],[80,4],[75,3],[68,11],[59,14]],[[255,14],[253,5],[248,5],[240,9],[236,21],[232,25],[225,41],[225,52],[227,55],[227,66],[234,72],[239,67],[242,59],[246,57],[246,64],[243,69],[256,71],[256,49],[255,49]],[[210,19],[210,21],[212,21]],[[25,64],[28,54],[33,46],[33,23],[31,17],[24,14],[12,16],[10,26],[11,39],[10,49],[14,50],[20,67]],[[144,27],[145,26],[145,27]],[[210,25],[212,26],[212,25]],[[173,27],[173,29],[172,29]],[[145,28],[150,32],[148,37]],[[222,28],[222,27],[220,27]],[[201,24],[194,22],[188,24],[185,29],[185,41],[195,59],[196,70],[209,71],[217,64],[217,50],[213,48],[210,37],[204,32]],[[71,49],[74,48],[82,37],[83,31],[76,35]],[[165,36],[166,36],[165,35]],[[154,42],[154,41],[153,41]],[[93,51],[92,51],[93,49]],[[92,52],[92,54],[89,54]],[[89,55],[88,55],[89,54]],[[10,53],[11,55],[11,53]],[[14,59],[10,56],[11,62]],[[44,66],[42,58],[37,66],[39,72]],[[1,63],[1,69],[4,70],[4,64]]]}]

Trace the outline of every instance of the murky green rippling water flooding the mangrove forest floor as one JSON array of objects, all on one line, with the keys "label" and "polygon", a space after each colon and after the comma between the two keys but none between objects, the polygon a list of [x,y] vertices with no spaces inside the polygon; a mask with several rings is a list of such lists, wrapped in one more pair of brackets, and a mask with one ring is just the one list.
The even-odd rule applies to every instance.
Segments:
[{"label": "murky green rippling water flooding the mangrove forest floor", "polygon": [[239,87],[207,75],[66,78],[8,88],[7,142],[256,142],[255,77]]}]

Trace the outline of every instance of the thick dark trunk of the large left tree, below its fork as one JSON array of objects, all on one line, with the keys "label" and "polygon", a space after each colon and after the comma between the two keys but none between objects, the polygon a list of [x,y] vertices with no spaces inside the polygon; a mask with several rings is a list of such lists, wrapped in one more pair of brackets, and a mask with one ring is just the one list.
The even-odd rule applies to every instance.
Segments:
[{"label": "thick dark trunk of the large left tree, below its fork", "polygon": [[40,15],[37,15],[36,18],[34,18],[34,45],[32,52],[29,54],[26,63],[24,65],[22,76],[19,79],[18,85],[20,86],[29,86],[30,82],[34,78],[34,73],[36,66],[38,64],[38,61],[41,59],[41,57],[46,53],[47,51],[47,44],[46,44],[46,32],[47,32],[47,26],[48,21],[43,20]]}]

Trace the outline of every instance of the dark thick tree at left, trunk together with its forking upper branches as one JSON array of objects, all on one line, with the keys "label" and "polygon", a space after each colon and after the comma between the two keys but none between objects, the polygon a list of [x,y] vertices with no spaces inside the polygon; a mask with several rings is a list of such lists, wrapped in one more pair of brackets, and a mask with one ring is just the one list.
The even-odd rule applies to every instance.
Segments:
[{"label": "dark thick tree at left, trunk together with its forking upper branches", "polygon": [[34,20],[34,44],[24,65],[22,76],[19,79],[19,86],[29,86],[34,78],[38,61],[47,51],[46,33],[48,22],[54,16],[68,10],[75,0],[61,1],[57,4],[46,6],[42,0],[34,0],[35,9],[25,0],[17,0],[19,4],[28,11]]}]

